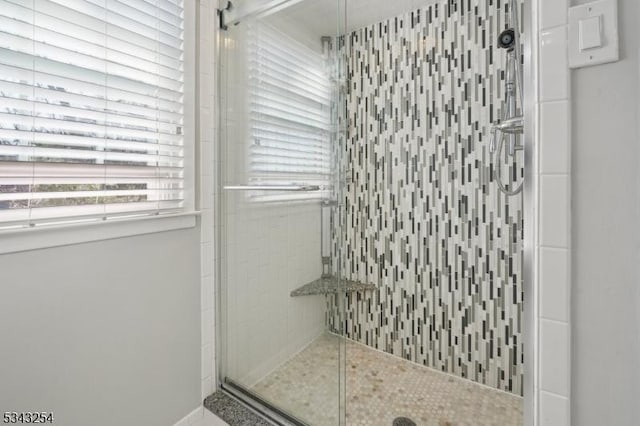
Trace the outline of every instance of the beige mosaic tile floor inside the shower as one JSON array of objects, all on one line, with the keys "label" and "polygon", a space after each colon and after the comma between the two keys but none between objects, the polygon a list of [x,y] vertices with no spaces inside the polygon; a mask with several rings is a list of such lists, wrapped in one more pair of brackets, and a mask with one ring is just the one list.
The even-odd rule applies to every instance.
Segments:
[{"label": "beige mosaic tile floor inside the shower", "polygon": [[[252,390],[313,426],[338,424],[340,339],[318,337]],[[523,400],[347,342],[347,425],[516,426]]]}]

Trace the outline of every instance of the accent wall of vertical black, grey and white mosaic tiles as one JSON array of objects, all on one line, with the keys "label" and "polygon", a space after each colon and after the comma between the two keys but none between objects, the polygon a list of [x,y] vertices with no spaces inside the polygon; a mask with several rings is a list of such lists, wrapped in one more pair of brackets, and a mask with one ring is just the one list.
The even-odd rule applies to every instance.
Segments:
[{"label": "accent wall of vertical black, grey and white mosaic tiles", "polygon": [[[489,153],[508,13],[501,0],[449,0],[342,40],[333,267],[378,290],[344,310],[330,298],[327,321],[339,331],[343,312],[350,339],[522,394],[522,198],[499,191]],[[505,180],[522,179],[521,163],[505,164]]]}]

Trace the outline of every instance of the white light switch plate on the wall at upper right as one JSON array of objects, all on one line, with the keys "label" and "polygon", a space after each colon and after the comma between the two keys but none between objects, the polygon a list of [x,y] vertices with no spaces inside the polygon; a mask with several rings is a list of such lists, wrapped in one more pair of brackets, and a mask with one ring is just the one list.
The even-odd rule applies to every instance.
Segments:
[{"label": "white light switch plate on the wall at upper right", "polygon": [[[589,25],[594,22],[592,18],[600,20],[601,46],[583,50],[585,41],[589,46],[596,36],[581,34],[581,28],[593,29]],[[620,59],[618,43],[618,0],[599,0],[569,8],[569,67],[616,62]]]}]

